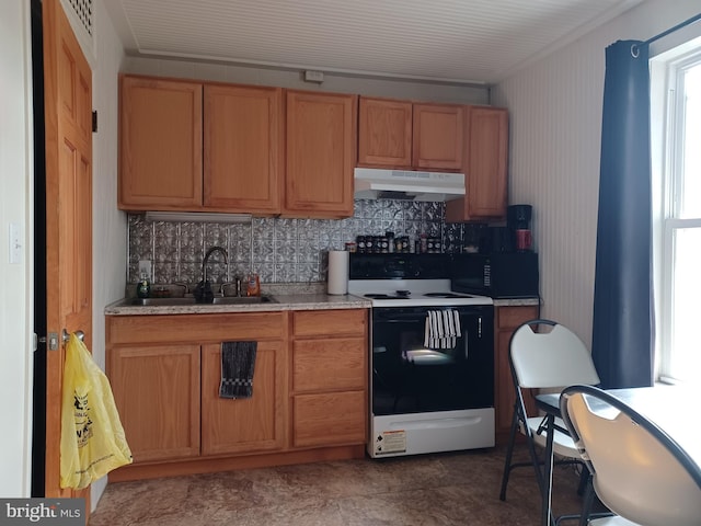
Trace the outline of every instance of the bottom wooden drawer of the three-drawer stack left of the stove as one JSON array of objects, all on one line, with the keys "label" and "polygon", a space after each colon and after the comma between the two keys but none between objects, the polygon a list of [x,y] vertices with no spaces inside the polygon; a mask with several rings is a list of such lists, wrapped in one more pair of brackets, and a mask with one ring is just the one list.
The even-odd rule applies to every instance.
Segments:
[{"label": "bottom wooden drawer of the three-drawer stack left of the stove", "polygon": [[298,395],[292,404],[295,446],[365,443],[365,391]]}]

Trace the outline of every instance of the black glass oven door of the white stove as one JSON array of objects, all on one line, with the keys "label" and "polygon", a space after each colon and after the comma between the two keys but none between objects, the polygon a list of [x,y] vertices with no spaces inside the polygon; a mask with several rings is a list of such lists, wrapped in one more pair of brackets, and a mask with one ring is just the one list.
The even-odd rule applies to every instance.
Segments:
[{"label": "black glass oven door of the white stove", "polygon": [[[450,348],[424,345],[429,310],[457,310],[461,335]],[[494,309],[372,309],[371,398],[375,415],[494,407]]]}]

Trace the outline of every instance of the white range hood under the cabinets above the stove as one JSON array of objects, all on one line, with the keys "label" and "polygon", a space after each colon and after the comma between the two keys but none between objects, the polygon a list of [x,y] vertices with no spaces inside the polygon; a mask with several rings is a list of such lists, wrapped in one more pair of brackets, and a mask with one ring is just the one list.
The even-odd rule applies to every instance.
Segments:
[{"label": "white range hood under the cabinets above the stove", "polygon": [[356,199],[450,201],[464,196],[464,174],[355,169]]}]

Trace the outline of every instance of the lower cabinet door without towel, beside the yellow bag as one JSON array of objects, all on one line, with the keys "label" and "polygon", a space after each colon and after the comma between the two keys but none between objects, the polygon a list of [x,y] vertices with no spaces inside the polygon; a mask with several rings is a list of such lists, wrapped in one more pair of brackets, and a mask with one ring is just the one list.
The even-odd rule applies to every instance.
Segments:
[{"label": "lower cabinet door without towel, beside the yellow bag", "polygon": [[112,348],[110,381],[135,464],[199,455],[199,345]]}]

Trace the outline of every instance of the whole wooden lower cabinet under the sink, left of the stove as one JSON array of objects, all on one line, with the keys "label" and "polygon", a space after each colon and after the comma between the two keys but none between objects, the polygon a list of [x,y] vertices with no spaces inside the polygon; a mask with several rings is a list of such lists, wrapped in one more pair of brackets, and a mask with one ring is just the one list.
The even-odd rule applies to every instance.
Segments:
[{"label": "whole wooden lower cabinet under the sink, left of the stove", "polygon": [[[361,455],[367,334],[366,309],[107,316],[107,375],[134,456],[116,472],[177,474],[266,455],[311,461],[329,448]],[[226,341],[257,342],[251,398],[219,397]]]}]

